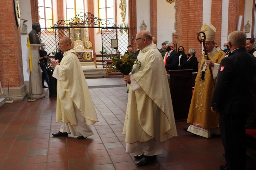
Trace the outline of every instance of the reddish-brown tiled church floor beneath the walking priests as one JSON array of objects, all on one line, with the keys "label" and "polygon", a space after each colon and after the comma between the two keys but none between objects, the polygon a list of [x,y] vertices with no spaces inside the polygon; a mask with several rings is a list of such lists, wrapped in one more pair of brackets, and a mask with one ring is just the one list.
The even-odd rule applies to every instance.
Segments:
[{"label": "reddish-brown tiled church floor beneath the walking priests", "polygon": [[[125,152],[122,135],[127,103],[122,77],[87,79],[99,122],[86,140],[53,137],[61,123],[55,122],[56,98],[14,102],[0,107],[1,170],[219,170],[225,164],[218,138],[186,133],[186,122],[177,122],[178,137],[165,143],[164,154],[146,167],[136,167],[133,155]],[[139,154],[139,153],[138,153]],[[247,170],[255,170],[248,157]]]}]

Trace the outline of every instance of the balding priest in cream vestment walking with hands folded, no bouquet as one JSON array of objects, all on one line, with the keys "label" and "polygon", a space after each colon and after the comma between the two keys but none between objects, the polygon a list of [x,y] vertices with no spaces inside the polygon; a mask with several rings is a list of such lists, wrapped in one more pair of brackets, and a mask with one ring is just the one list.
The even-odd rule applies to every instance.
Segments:
[{"label": "balding priest in cream vestment walking with hands folded, no bouquet", "polygon": [[52,135],[68,136],[69,133],[85,139],[93,135],[88,125],[98,122],[96,111],[70,38],[60,38],[59,47],[64,51],[62,62],[51,64],[55,68],[52,76],[57,79],[56,122],[62,122],[62,126],[60,132]]}]

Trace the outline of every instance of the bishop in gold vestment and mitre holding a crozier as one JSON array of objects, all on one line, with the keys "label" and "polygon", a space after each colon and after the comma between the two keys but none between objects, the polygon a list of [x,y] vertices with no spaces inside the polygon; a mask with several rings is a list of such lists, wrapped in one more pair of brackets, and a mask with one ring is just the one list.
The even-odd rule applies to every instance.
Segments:
[{"label": "bishop in gold vestment and mitre holding a crozier", "polygon": [[210,61],[207,61],[204,57],[204,53],[201,56],[199,62],[198,74],[196,76],[196,82],[194,86],[193,96],[191,99],[190,110],[188,113],[188,123],[193,123],[184,130],[194,133],[205,138],[211,136],[218,136],[219,130],[219,117],[211,111],[211,99],[214,91],[214,84],[209,71],[211,66],[213,79],[216,80],[220,61],[225,57],[225,53],[220,47],[215,47],[214,38],[216,29],[214,26],[208,26],[204,24],[201,28],[206,34],[206,49],[208,50],[208,57]]}]

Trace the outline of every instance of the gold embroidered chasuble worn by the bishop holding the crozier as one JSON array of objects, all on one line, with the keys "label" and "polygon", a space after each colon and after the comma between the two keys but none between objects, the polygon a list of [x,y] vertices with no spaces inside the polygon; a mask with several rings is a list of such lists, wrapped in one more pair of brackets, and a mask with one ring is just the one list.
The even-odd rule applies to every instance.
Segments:
[{"label": "gold embroidered chasuble worn by the bishop holding the crozier", "polygon": [[[219,47],[214,48],[211,53],[208,53],[209,58],[214,63],[218,64],[220,64],[220,61],[225,57],[225,55],[226,54]],[[202,79],[203,73],[204,79]],[[206,66],[206,59],[204,58],[203,53],[198,67],[198,74],[196,76],[187,122],[201,125],[202,128],[205,129],[219,127],[219,118],[211,111],[210,106],[214,91],[211,79],[212,77],[209,67]]]}]

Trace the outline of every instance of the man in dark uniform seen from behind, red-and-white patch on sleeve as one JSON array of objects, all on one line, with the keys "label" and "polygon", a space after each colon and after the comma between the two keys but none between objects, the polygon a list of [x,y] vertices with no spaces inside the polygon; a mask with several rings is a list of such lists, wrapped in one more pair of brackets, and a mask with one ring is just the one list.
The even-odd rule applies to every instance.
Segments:
[{"label": "man in dark uniform seen from behind, red-and-white patch on sleeve", "polygon": [[220,63],[211,109],[219,113],[219,125],[226,165],[221,170],[246,169],[245,123],[254,111],[252,87],[256,77],[256,58],[246,51],[246,34],[228,35],[231,53]]}]

